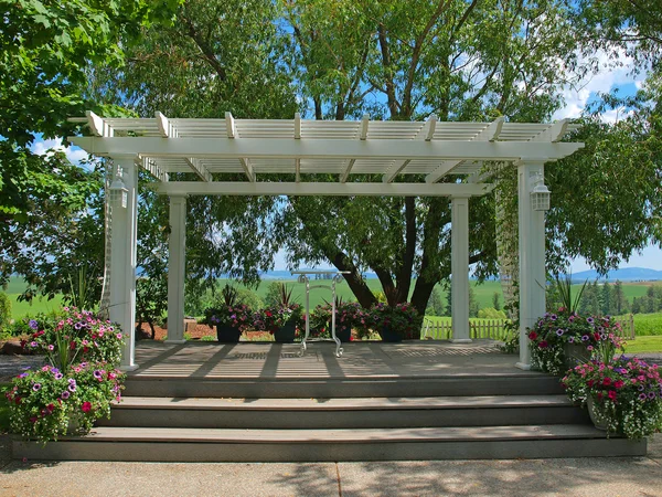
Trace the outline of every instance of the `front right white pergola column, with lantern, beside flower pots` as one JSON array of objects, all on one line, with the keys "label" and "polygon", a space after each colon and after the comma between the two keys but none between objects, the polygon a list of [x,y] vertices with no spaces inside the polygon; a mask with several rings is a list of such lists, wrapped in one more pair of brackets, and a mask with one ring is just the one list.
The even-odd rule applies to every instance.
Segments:
[{"label": "front right white pergola column, with lantern, beside flower pots", "polygon": [[545,162],[517,162],[520,231],[520,369],[531,369],[531,351],[526,329],[545,314],[545,212],[534,211],[531,191],[535,178],[544,175]]}]

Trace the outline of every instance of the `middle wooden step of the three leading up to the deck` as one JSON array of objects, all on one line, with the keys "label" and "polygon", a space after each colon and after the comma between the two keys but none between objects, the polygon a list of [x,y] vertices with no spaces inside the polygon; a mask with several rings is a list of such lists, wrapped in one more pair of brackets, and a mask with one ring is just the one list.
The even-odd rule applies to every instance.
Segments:
[{"label": "middle wooden step of the three leading up to the deck", "polygon": [[566,395],[350,399],[128,396],[104,426],[369,429],[586,423]]}]

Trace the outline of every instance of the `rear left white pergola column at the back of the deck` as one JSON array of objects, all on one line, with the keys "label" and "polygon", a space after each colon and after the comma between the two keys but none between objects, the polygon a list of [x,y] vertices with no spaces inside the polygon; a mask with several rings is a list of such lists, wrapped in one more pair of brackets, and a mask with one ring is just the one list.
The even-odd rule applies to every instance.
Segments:
[{"label": "rear left white pergola column at the back of the deck", "polygon": [[168,244],[168,343],[184,342],[184,278],[186,271],[186,198],[170,197]]}]

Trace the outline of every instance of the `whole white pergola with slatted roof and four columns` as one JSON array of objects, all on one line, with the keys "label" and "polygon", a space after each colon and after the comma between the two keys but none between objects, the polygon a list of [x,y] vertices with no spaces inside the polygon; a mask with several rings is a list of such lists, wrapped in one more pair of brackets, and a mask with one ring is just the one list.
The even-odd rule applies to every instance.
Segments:
[{"label": "whole white pergola with slatted roof and four columns", "polygon": [[[110,190],[109,314],[130,335],[122,367],[135,369],[137,170],[153,178],[153,188],[170,197],[168,341],[183,341],[185,210],[189,195],[392,195],[450,197],[452,334],[470,341],[469,198],[491,189],[481,183],[483,161],[511,162],[519,178],[520,362],[527,369],[525,330],[545,311],[545,218],[531,194],[540,190],[544,165],[581,148],[559,142],[574,129],[555,124],[360,121],[293,119],[74,118],[93,136],[70,141],[115,165]],[[195,181],[174,181],[172,173],[193,173]],[[239,173],[239,181],[217,175]],[[263,175],[289,173],[289,182]],[[314,176],[313,176],[314,175]],[[330,175],[332,181],[320,181]],[[362,181],[353,181],[361,175]],[[375,178],[373,182],[365,179]],[[439,182],[451,177],[452,182]],[[421,182],[420,178],[425,181]],[[537,190],[536,190],[537,191]]]}]

